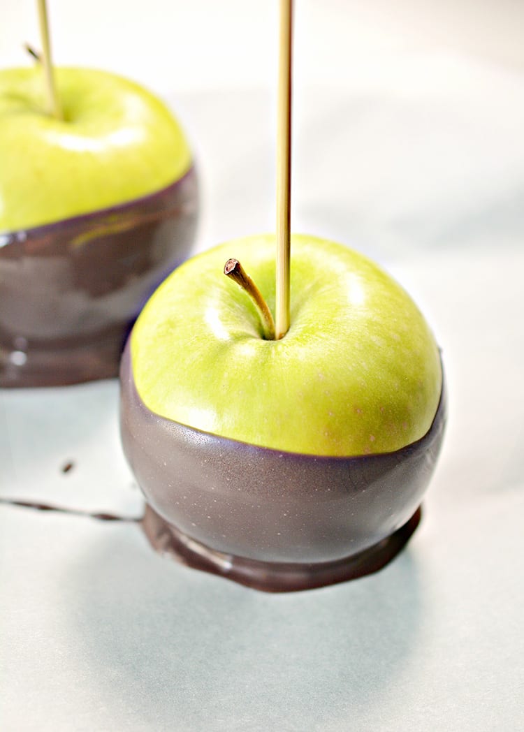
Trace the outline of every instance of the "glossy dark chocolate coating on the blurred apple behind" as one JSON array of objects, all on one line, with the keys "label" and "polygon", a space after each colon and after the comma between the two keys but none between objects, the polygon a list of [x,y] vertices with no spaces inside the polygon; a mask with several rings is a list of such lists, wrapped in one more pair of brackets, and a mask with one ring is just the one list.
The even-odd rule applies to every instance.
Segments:
[{"label": "glossy dark chocolate coating on the blurred apple behind", "polygon": [[133,321],[189,255],[195,169],[156,193],[0,234],[0,386],[118,376]]}]

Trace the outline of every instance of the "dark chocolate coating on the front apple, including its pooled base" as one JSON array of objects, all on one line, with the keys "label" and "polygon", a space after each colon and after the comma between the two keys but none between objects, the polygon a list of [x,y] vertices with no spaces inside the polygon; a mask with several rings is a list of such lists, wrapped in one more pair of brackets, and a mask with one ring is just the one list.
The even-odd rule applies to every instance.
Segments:
[{"label": "dark chocolate coating on the front apple, including its pooled base", "polygon": [[[392,559],[418,523],[417,509],[433,474],[445,421],[443,388],[430,430],[395,452],[357,458],[280,452],[159,417],[136,391],[129,343],[121,363],[124,452],[149,506],[173,527],[171,539],[163,531],[159,540],[159,523],[150,512],[146,524],[149,520],[151,541],[179,556],[180,543],[206,555],[206,561],[214,553],[225,567],[235,558],[256,564],[247,580],[245,572],[243,579],[231,577],[262,589],[340,581],[344,572],[330,577],[327,565],[353,560],[359,571],[349,574],[360,576]],[[384,548],[381,542],[399,531],[396,548],[390,545],[389,553],[377,558],[377,548]],[[367,556],[359,557],[367,550]],[[299,587],[285,586],[285,572],[274,572],[272,580],[277,564],[293,565],[312,579],[304,584],[302,577]],[[325,582],[318,581],[318,572],[314,579],[315,566],[322,569]]]}]

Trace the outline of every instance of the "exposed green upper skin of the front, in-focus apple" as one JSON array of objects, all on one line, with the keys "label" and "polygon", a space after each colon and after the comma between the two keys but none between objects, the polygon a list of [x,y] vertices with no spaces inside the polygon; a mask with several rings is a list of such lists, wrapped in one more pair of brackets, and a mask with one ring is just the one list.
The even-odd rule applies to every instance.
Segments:
[{"label": "exposed green upper skin of the front, in-focus apple", "polygon": [[154,414],[204,433],[304,455],[394,452],[432,425],[438,346],[403,288],[370,259],[292,237],[291,327],[264,340],[236,257],[274,307],[274,236],[222,244],[176,269],[131,336],[132,374]]}]

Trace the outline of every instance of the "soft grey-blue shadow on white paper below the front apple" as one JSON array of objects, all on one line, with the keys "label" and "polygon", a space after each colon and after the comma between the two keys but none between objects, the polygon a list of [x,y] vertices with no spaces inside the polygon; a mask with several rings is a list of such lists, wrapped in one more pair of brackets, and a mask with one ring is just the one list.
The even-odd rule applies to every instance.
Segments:
[{"label": "soft grey-blue shadow on white paper below the front apple", "polygon": [[96,702],[91,724],[208,732],[381,721],[424,616],[409,548],[367,578],[265,594],[162,559],[136,526],[108,526],[106,537],[61,580],[72,652]]}]

